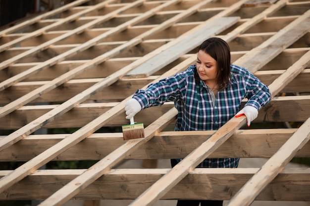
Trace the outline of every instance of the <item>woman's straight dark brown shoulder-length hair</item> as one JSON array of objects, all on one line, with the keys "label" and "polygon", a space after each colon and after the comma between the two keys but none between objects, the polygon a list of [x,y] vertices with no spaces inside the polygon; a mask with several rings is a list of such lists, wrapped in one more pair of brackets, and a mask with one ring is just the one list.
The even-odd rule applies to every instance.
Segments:
[{"label": "woman's straight dark brown shoulder-length hair", "polygon": [[[226,41],[220,38],[210,38],[204,41],[198,51],[204,51],[217,62],[216,83],[218,90],[223,90],[229,84],[230,76],[230,48]],[[195,80],[200,80],[197,68],[195,70]]]}]

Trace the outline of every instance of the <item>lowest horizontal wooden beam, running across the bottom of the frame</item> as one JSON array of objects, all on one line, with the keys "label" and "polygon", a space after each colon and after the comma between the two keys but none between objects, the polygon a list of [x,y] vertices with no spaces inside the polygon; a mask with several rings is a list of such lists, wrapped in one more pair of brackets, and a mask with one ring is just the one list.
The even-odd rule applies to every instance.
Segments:
[{"label": "lowest horizontal wooden beam, running across the bottom of the frame", "polygon": [[[213,200],[229,200],[258,169],[197,168],[162,199],[182,199],[186,196],[196,200],[210,197]],[[168,170],[169,168],[111,169],[73,199],[132,200]],[[0,194],[0,200],[44,200],[61,188],[63,184],[70,182],[85,171],[86,169],[38,170],[21,180],[14,188],[9,188],[5,191],[6,193]],[[8,172],[10,171],[0,171],[0,177]],[[257,200],[309,201],[309,178],[310,168],[286,168],[260,193]],[[116,201],[114,204],[117,205],[118,202]]]}]

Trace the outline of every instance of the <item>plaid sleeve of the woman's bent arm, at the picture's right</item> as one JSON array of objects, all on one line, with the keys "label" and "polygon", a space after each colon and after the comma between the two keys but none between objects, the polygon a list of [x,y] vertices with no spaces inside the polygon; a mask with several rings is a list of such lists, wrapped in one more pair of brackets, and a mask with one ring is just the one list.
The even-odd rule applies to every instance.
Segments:
[{"label": "plaid sleeve of the woman's bent arm, at the picture's right", "polygon": [[271,100],[269,88],[248,70],[246,70],[246,80],[246,98],[248,98],[246,105],[253,106],[259,110]]}]

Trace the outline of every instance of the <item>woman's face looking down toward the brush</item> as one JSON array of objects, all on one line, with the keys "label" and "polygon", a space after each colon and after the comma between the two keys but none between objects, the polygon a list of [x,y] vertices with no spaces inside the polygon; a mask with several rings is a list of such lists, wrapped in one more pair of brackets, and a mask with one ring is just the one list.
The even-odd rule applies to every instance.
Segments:
[{"label": "woman's face looking down toward the brush", "polygon": [[213,87],[217,73],[217,62],[203,50],[197,53],[196,68],[200,79],[208,86]]}]

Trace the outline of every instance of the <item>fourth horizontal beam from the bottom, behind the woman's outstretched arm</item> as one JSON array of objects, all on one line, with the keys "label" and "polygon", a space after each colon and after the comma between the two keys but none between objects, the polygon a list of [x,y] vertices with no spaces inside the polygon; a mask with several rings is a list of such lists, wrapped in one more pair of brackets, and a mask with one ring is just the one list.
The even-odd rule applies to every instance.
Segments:
[{"label": "fourth horizontal beam from the bottom, behind the woman's outstretched arm", "polygon": [[[121,65],[121,64],[120,64]],[[128,65],[128,64],[127,64]],[[307,66],[307,65],[306,65]],[[93,70],[99,70],[100,67],[93,68]],[[260,80],[266,85],[272,83],[276,78],[283,74],[286,70],[276,70],[276,71],[258,71],[255,75],[260,78]],[[102,72],[102,70],[101,70]],[[108,72],[108,71],[107,71]],[[112,72],[110,73],[112,74]],[[108,74],[108,75],[110,75]],[[309,92],[309,76],[310,69],[306,69],[300,73],[295,79],[289,82],[284,88],[279,92]],[[146,84],[157,79],[159,76],[150,76],[148,78],[139,79],[121,79],[117,82],[105,87],[103,90],[92,95],[90,100],[97,101],[117,101],[124,98],[124,96],[129,96],[133,94],[137,88],[141,88]],[[42,94],[33,102],[62,102],[66,101],[68,98],[84,91],[90,86],[103,81],[103,78],[93,78],[93,79],[78,79],[69,80],[66,83],[54,88],[53,90]],[[38,89],[44,86],[47,81],[40,82],[19,82],[7,90],[0,92],[0,103],[8,104],[19,97],[26,95],[34,89]]]}]

